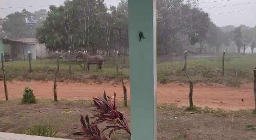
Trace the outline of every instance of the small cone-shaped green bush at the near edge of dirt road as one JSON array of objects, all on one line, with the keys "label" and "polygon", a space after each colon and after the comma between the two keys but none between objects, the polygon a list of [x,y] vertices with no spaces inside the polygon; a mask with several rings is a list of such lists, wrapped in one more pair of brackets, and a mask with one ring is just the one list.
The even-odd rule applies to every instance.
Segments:
[{"label": "small cone-shaped green bush at the near edge of dirt road", "polygon": [[36,98],[33,94],[33,90],[30,87],[25,87],[23,91],[22,103],[36,103]]}]

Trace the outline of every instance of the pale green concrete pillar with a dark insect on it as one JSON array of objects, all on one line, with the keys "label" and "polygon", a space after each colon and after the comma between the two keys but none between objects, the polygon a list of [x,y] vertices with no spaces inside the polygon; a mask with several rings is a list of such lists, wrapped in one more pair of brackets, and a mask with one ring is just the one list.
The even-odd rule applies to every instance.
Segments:
[{"label": "pale green concrete pillar with a dark insect on it", "polygon": [[132,140],[156,140],[156,0],[128,0],[128,6]]}]

